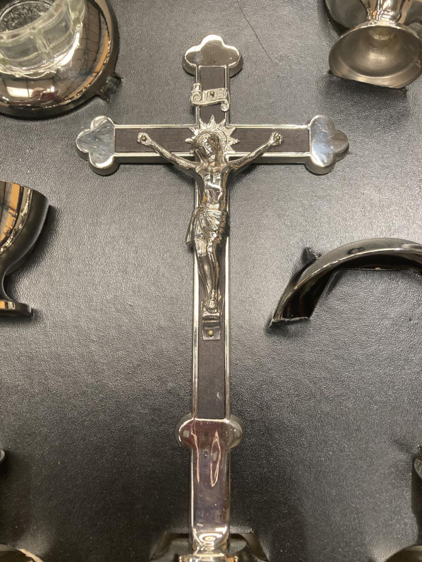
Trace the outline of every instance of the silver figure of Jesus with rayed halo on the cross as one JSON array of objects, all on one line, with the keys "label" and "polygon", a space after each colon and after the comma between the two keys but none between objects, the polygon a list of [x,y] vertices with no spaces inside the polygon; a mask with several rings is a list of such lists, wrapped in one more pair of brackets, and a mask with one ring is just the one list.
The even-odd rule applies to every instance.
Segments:
[{"label": "silver figure of Jesus with rayed halo on the cross", "polygon": [[146,132],[138,135],[139,143],[153,148],[172,164],[190,172],[199,187],[200,202],[192,214],[186,243],[195,248],[199,274],[205,285],[203,318],[213,321],[219,321],[223,307],[219,286],[220,255],[230,228],[227,212],[228,181],[232,175],[283,141],[280,133],[272,133],[268,142],[248,155],[230,161],[231,145],[237,142],[231,137],[234,130],[234,127],[226,127],[225,120],[216,124],[214,116],[208,124],[200,120],[199,127],[191,129],[194,137],[187,139],[187,142],[193,144],[196,161],[172,154],[152,140]]}]

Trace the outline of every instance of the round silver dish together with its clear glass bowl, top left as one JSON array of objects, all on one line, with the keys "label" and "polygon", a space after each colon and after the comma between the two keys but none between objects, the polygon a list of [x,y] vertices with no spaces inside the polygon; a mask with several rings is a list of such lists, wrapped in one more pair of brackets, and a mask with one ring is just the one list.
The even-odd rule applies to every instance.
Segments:
[{"label": "round silver dish together with its clear glass bowl, top left", "polygon": [[109,97],[117,55],[107,0],[0,0],[0,112],[50,117]]}]

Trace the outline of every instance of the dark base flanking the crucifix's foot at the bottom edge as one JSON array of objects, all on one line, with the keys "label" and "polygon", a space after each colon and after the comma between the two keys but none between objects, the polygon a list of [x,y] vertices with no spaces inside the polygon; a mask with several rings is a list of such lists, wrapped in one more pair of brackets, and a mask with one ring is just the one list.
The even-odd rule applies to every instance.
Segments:
[{"label": "dark base flanking the crucifix's foot at the bottom edge", "polygon": [[268,562],[254,533],[231,537],[226,554],[192,554],[189,537],[182,533],[165,533],[151,560],[160,562]]}]

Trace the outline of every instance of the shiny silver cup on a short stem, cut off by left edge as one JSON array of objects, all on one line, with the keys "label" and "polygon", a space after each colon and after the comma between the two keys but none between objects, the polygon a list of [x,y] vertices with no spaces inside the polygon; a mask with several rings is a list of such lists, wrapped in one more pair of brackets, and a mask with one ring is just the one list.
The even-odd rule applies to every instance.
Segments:
[{"label": "shiny silver cup on a short stem, cut off by left edge", "polygon": [[31,307],[15,302],[3,287],[32,250],[46,219],[48,200],[24,185],[0,181],[0,317],[29,316]]}]

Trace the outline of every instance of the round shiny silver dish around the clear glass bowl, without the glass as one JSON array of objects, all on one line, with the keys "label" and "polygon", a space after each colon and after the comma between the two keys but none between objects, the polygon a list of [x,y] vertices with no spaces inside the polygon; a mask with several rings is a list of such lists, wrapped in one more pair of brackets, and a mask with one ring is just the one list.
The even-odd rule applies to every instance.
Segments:
[{"label": "round shiny silver dish around the clear glass bowl, without the glass", "polygon": [[115,74],[119,48],[115,16],[108,0],[84,2],[82,31],[68,57],[41,75],[0,71],[0,113],[43,119],[114,92],[120,81]]}]

